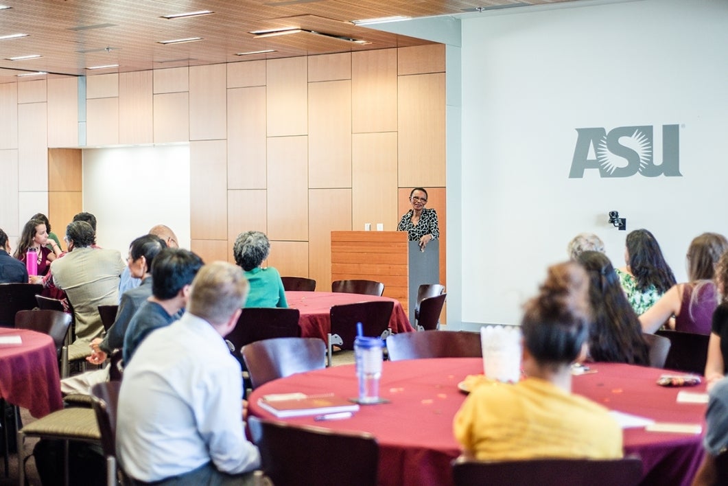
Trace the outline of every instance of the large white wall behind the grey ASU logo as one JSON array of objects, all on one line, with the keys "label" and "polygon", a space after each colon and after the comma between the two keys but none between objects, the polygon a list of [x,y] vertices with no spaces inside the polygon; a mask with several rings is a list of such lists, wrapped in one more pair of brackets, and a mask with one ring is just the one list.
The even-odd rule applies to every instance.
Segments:
[{"label": "large white wall behind the grey ASU logo", "polygon": [[[623,264],[627,232],[607,223],[612,210],[627,218],[628,231],[654,233],[678,280],[695,235],[728,235],[726,46],[724,0],[577,3],[462,18],[462,235],[448,232],[448,246],[462,248],[463,321],[518,323],[521,304],[547,265],[566,259],[578,232],[596,232],[612,262]],[[602,178],[587,169],[569,179],[577,128],[652,126],[660,164],[662,125],[672,124],[681,177]],[[627,165],[613,154],[608,160]],[[448,294],[448,302],[459,297]]]}]

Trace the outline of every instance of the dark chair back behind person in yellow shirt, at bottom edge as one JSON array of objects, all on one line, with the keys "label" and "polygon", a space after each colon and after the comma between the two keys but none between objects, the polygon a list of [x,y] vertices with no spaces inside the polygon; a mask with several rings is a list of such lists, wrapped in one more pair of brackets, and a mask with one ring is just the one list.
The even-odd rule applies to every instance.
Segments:
[{"label": "dark chair back behind person in yellow shirt, at bottom edge", "polygon": [[453,461],[455,486],[634,486],[642,478],[636,457],[594,459],[525,459]]}]

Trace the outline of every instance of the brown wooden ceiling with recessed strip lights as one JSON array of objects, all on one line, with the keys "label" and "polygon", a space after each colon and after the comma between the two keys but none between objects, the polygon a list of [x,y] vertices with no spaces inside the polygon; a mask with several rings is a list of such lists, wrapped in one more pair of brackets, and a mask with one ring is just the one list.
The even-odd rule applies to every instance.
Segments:
[{"label": "brown wooden ceiling with recessed strip lights", "polygon": [[[0,0],[0,82],[427,44],[352,20],[426,17],[573,0]],[[173,20],[163,15],[209,10]],[[256,38],[251,31],[301,29]],[[1,39],[12,34],[27,34]],[[323,35],[322,35],[323,34]],[[202,38],[199,42],[161,41]],[[358,44],[346,39],[367,42]],[[274,50],[256,55],[240,52]],[[9,60],[19,56],[39,58]],[[89,70],[92,66],[118,67]]]}]

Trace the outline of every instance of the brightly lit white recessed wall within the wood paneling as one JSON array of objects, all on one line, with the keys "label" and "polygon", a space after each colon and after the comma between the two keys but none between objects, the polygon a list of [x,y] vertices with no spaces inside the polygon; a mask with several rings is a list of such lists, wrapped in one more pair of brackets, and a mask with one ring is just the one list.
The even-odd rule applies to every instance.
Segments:
[{"label": "brightly lit white recessed wall within the wood paneling", "polygon": [[85,149],[83,184],[99,246],[125,258],[132,240],[166,224],[189,248],[189,144]]}]

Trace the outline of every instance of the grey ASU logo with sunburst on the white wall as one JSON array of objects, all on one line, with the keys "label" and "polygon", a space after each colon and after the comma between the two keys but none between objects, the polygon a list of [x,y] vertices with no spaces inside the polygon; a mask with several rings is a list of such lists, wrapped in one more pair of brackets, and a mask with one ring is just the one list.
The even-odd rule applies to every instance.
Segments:
[{"label": "grey ASU logo with sunburst on the white wall", "polygon": [[[654,160],[653,127],[577,128],[569,179],[584,177],[586,169],[596,169],[601,177],[681,177],[678,141],[679,125],[662,125],[662,163]],[[589,158],[596,157],[596,158]]]}]

